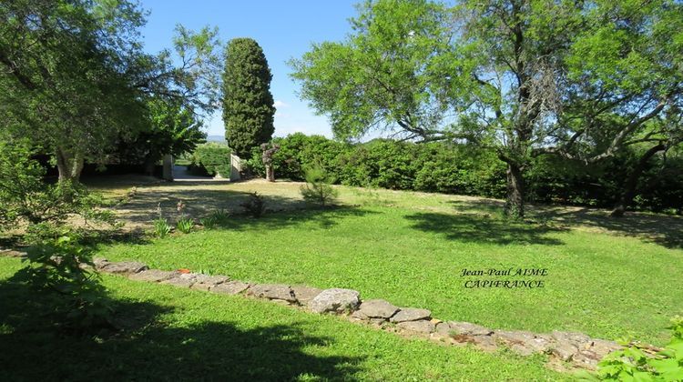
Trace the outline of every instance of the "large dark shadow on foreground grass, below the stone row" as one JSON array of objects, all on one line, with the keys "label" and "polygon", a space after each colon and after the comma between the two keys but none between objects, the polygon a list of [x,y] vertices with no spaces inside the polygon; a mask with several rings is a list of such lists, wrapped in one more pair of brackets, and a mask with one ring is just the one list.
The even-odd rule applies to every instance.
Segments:
[{"label": "large dark shadow on foreground grass, below the stone row", "polygon": [[[103,297],[108,298],[108,297]],[[330,338],[299,326],[243,329],[227,322],[168,327],[172,309],[111,301],[117,332],[73,334],[54,327],[59,300],[0,283],[0,373],[5,380],[352,379],[360,358],[308,354]]]}]

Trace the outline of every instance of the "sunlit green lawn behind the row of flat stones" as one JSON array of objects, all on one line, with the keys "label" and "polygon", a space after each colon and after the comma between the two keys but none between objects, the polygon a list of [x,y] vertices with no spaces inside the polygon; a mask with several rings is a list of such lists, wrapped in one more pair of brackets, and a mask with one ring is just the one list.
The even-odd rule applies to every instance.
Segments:
[{"label": "sunlit green lawn behind the row of flat stones", "polygon": [[[220,195],[239,199],[241,192],[259,189],[278,203],[300,203],[296,185],[275,186],[286,192],[263,184],[220,187],[193,194],[191,186],[182,186],[178,197],[210,205]],[[163,190],[172,199],[172,187]],[[210,197],[202,199],[202,192]],[[234,216],[218,230],[105,246],[99,255],[254,282],[349,287],[364,298],[426,307],[443,320],[493,328],[632,335],[662,344],[669,317],[683,314],[679,218],[615,222],[583,209],[537,207],[530,214],[536,223],[509,224],[497,217],[494,201],[349,188],[342,189],[342,203],[261,219]],[[541,267],[548,276],[545,287],[534,290],[464,288],[471,278],[460,276],[462,269],[493,267]]]}]

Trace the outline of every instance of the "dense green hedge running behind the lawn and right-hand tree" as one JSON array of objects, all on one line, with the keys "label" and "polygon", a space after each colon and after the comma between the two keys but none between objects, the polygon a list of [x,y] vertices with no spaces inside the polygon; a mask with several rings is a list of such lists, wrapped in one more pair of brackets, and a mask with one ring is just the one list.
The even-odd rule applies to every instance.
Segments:
[{"label": "dense green hedge running behind the lawn and right-hand tree", "polygon": [[[301,133],[275,138],[273,143],[280,145],[273,156],[275,174],[280,178],[302,181],[307,167],[321,166],[341,185],[505,197],[505,164],[493,150],[388,139],[353,145]],[[636,150],[629,150],[593,165],[553,156],[536,158],[526,175],[528,201],[614,206],[625,173],[637,156]],[[252,151],[248,165],[256,175],[265,174],[260,149]],[[638,182],[634,207],[680,214],[681,206],[682,158],[651,159]]]}]

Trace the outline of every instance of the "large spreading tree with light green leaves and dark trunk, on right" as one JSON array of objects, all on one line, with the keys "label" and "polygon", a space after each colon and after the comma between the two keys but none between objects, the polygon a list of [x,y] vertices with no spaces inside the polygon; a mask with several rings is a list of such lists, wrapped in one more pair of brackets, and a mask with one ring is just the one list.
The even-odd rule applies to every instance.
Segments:
[{"label": "large spreading tree with light green leaves and dark trunk, on right", "polygon": [[507,166],[505,211],[518,216],[535,157],[596,162],[662,139],[643,131],[647,122],[677,114],[683,100],[671,28],[683,5],[673,0],[379,0],[358,9],[344,41],[291,62],[302,98],[341,138],[389,130],[493,150]]}]

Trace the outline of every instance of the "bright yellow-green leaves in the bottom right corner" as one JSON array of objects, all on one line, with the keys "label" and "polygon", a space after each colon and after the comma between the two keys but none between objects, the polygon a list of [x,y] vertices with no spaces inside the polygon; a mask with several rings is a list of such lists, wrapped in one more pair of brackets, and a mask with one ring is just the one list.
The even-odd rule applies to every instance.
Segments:
[{"label": "bright yellow-green leaves in the bottom right corner", "polygon": [[656,355],[637,343],[626,342],[597,364],[597,374],[582,373],[586,380],[679,381],[683,379],[683,318],[671,320],[671,340]]}]

